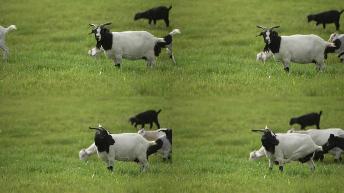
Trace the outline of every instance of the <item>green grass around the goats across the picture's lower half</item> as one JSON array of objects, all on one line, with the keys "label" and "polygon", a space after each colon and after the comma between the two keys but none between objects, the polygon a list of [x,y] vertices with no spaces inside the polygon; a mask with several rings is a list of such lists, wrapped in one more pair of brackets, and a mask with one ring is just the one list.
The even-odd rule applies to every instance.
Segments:
[{"label": "green grass around the goats across the picture's lower half", "polygon": [[[115,162],[112,174],[96,155],[79,161],[89,126],[135,132],[128,117],[148,108],[162,108],[161,126],[174,129],[173,164],[153,155],[147,173]],[[331,155],[314,174],[308,164],[281,173],[266,158],[248,161],[261,147],[251,129],[286,132],[304,109],[323,110],[321,128],[344,126],[341,98],[1,98],[0,192],[341,192],[344,167]]]}]

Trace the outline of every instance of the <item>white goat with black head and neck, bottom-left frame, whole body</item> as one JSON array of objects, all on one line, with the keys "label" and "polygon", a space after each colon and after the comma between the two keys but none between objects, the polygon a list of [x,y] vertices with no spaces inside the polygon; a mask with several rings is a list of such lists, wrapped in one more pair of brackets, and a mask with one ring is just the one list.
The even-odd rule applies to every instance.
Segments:
[{"label": "white goat with black head and neck, bottom-left frame, whole body", "polygon": [[140,165],[140,171],[148,170],[147,149],[156,145],[155,141],[147,141],[137,133],[110,134],[102,126],[89,127],[98,130],[95,133],[95,145],[98,157],[103,160],[110,171],[114,161],[135,161]]}]

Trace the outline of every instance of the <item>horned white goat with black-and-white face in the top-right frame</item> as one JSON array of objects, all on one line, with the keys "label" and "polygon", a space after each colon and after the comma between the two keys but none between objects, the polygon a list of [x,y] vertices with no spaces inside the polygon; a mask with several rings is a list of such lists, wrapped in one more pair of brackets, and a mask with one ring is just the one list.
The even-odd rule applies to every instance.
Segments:
[{"label": "horned white goat with black-and-white face in the top-right frame", "polygon": [[276,61],[282,62],[284,70],[289,73],[290,62],[306,64],[315,63],[317,71],[325,71],[325,49],[326,47],[336,47],[334,43],[326,42],[316,35],[294,35],[294,36],[279,36],[274,28],[280,26],[273,26],[267,29],[262,28],[257,36],[263,36],[265,47],[264,52],[269,50],[272,52]]}]

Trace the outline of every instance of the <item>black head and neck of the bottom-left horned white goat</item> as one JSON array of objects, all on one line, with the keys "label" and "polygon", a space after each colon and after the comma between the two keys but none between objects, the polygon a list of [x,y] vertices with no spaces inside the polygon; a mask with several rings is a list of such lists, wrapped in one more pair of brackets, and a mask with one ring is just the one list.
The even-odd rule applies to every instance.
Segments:
[{"label": "black head and neck of the bottom-left horned white goat", "polygon": [[107,131],[103,127],[89,127],[89,129],[97,129],[98,131],[95,133],[95,145],[99,152],[106,151],[109,153],[110,145],[115,144],[115,140],[112,138],[111,135],[107,133]]}]

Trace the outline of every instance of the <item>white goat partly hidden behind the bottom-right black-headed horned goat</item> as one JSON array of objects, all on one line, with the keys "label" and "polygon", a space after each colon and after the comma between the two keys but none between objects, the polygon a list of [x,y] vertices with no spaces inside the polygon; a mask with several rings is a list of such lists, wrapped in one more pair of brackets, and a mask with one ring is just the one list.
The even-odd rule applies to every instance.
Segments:
[{"label": "white goat partly hidden behind the bottom-right black-headed horned goat", "polygon": [[[290,129],[287,131],[287,133],[301,133],[301,134],[309,135],[313,139],[316,145],[323,146],[327,142],[327,139],[331,133],[335,135],[342,135],[344,134],[344,131],[339,128],[308,129],[308,130],[299,130],[299,131],[296,131],[295,129]],[[328,153],[335,156],[334,158],[335,162],[338,162],[341,160],[340,155],[342,152],[343,150],[341,150],[340,148],[333,148],[332,150],[328,151]],[[317,152],[315,154],[317,154]],[[318,158],[319,156],[315,156],[315,157]],[[314,159],[314,160],[317,160],[317,159]]]}]

